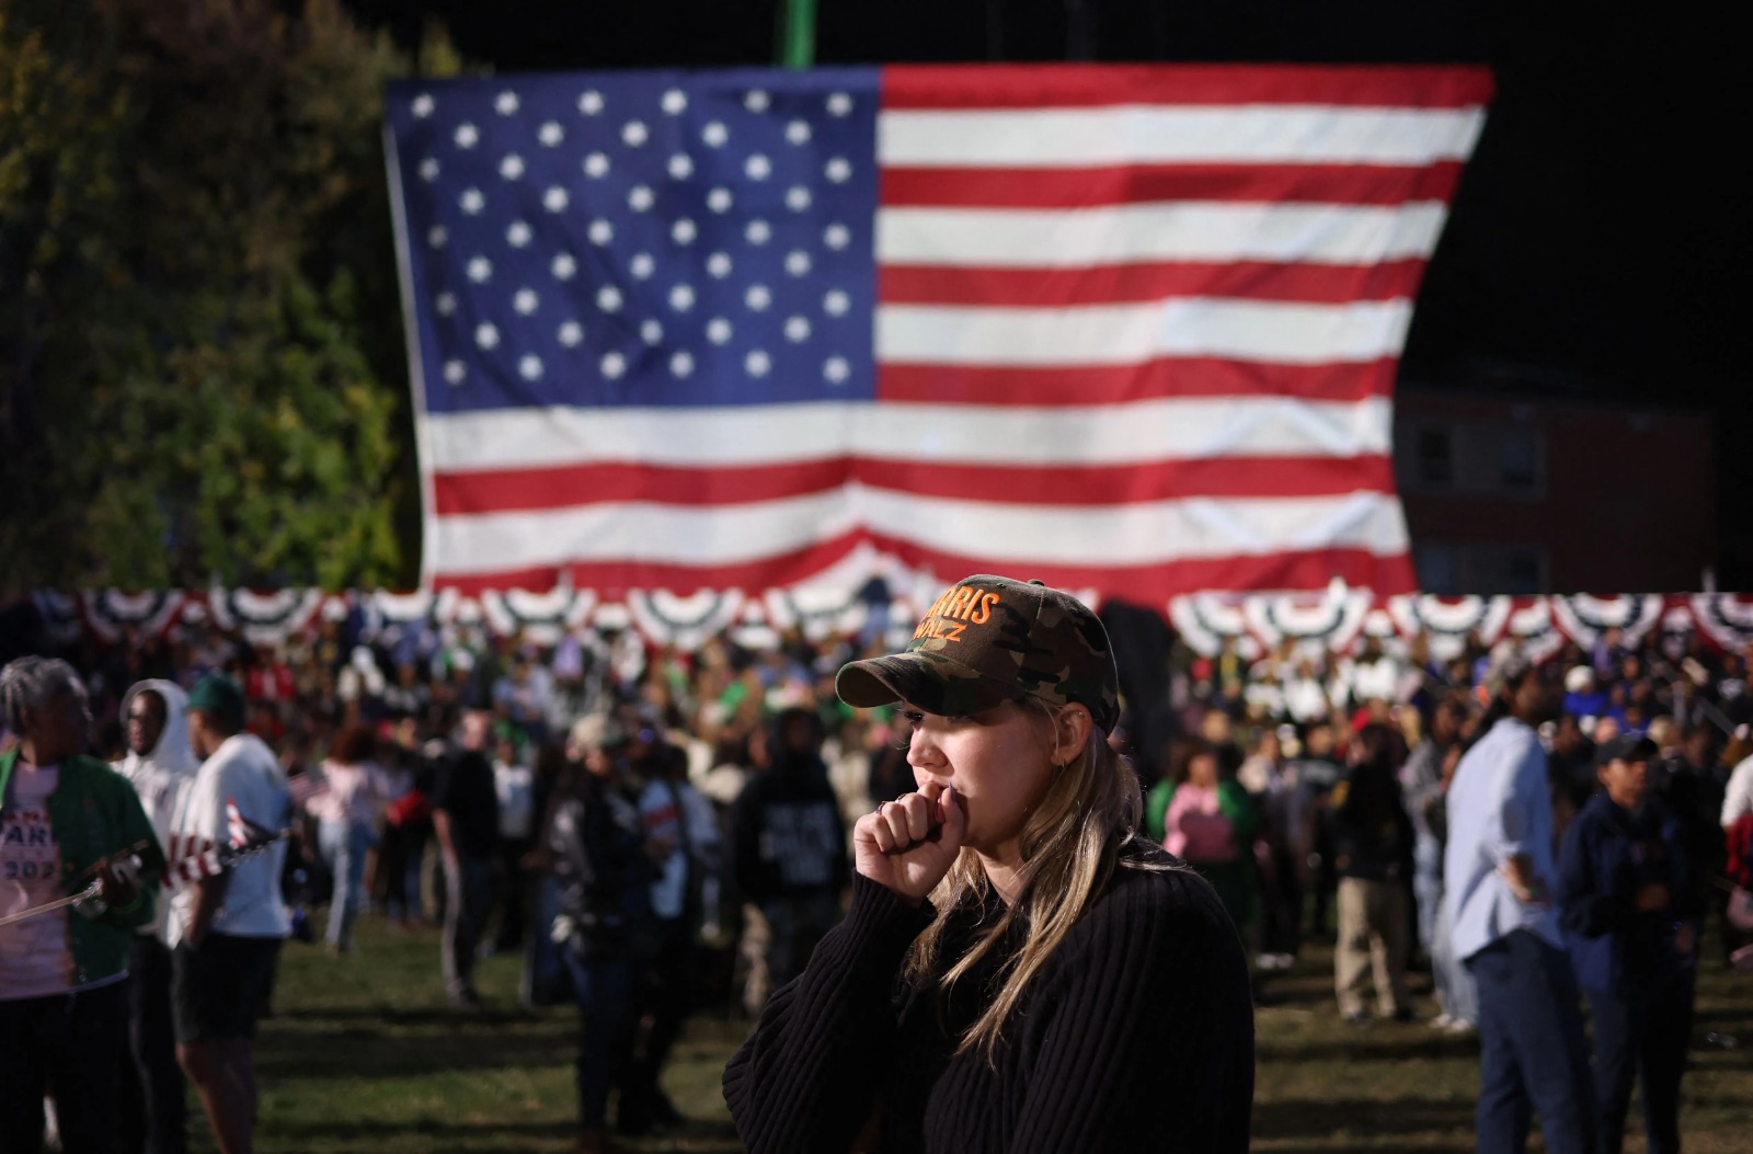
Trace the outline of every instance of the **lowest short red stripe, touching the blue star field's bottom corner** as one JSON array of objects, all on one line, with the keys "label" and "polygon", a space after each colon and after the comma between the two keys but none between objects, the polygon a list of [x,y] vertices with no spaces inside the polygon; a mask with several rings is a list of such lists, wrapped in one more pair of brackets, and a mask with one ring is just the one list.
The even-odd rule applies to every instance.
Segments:
[{"label": "lowest short red stripe, touching the blue star field's bottom corner", "polygon": [[1395,365],[1390,356],[1338,365],[1260,365],[1215,356],[1076,368],[885,363],[876,368],[876,396],[885,402],[1029,407],[1118,405],[1173,396],[1360,402],[1394,395]]}]

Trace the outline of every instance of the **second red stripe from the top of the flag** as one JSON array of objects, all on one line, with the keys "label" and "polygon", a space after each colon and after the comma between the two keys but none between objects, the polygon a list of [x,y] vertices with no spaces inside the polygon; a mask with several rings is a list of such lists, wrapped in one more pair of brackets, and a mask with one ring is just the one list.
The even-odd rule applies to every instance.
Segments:
[{"label": "second red stripe from the top of the flag", "polygon": [[1153,202],[1401,205],[1448,202],[1460,163],[1115,165],[1103,168],[885,167],[882,207],[1094,209]]}]

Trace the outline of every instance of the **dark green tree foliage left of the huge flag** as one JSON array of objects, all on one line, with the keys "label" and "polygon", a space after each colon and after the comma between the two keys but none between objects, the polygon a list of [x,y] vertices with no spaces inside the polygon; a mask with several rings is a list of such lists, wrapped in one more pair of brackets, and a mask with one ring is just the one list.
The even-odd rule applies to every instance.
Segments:
[{"label": "dark green tree foliage left of the huge flag", "polygon": [[412,582],[407,67],[337,0],[0,14],[0,586]]}]

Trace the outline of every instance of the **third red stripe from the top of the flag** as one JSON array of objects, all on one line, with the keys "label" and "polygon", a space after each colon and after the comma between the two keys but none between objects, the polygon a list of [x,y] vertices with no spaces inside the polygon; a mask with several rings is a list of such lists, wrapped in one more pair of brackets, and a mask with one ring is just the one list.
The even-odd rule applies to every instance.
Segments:
[{"label": "third red stripe from the top of the flag", "polygon": [[882,265],[885,305],[1064,307],[1171,296],[1245,296],[1343,305],[1418,293],[1425,261],[1381,265],[1280,265],[1271,261],[1096,265],[1090,268],[971,268]]}]

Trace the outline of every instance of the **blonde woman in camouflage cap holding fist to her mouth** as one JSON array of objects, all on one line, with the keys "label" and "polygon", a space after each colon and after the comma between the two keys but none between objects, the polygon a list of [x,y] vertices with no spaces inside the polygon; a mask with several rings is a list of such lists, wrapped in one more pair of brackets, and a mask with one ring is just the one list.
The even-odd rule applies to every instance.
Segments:
[{"label": "blonde woman in camouflage cap holding fist to her mouth", "polygon": [[857,821],[847,919],[726,1066],[749,1149],[1245,1150],[1246,963],[1136,835],[1101,621],[968,577],[836,687],[901,703],[917,791]]}]

